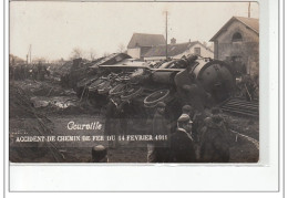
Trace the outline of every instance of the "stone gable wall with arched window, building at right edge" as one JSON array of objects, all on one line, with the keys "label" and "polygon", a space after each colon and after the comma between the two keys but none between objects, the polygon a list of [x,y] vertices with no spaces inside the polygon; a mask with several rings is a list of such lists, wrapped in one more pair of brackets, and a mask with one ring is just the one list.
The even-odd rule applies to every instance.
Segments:
[{"label": "stone gable wall with arched window, building at right edge", "polygon": [[[234,33],[239,32],[243,40],[233,42]],[[215,59],[243,62],[248,74],[259,73],[259,37],[239,21],[234,21],[214,42]]]}]

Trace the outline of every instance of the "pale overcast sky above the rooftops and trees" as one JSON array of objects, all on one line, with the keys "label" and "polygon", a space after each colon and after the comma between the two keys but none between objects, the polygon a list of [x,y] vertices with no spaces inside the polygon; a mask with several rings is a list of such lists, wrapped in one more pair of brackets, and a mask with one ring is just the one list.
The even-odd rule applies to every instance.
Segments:
[{"label": "pale overcast sky above the rooftops and trees", "polygon": [[[248,2],[10,2],[10,53],[25,59],[69,59],[74,48],[97,56],[125,46],[134,32],[165,35],[168,41],[206,41],[233,17],[247,17]],[[251,3],[251,18],[259,18]]]}]

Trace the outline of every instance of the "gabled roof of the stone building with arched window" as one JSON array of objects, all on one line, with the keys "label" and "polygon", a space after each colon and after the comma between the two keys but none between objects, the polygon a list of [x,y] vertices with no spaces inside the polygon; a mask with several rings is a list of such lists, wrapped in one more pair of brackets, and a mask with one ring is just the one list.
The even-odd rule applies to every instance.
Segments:
[{"label": "gabled roof of the stone building with arched window", "polygon": [[233,17],[227,23],[225,23],[222,29],[209,40],[214,41],[224,30],[226,30],[235,20],[241,22],[248,27],[251,31],[259,35],[259,19],[255,18],[243,18],[243,17]]}]

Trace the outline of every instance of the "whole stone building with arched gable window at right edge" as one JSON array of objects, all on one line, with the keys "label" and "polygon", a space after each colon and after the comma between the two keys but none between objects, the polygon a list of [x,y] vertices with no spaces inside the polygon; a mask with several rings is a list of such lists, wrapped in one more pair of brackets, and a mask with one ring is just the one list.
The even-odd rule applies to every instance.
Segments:
[{"label": "whole stone building with arched gable window at right edge", "polygon": [[241,64],[251,76],[259,74],[259,19],[233,17],[210,41],[215,59]]}]

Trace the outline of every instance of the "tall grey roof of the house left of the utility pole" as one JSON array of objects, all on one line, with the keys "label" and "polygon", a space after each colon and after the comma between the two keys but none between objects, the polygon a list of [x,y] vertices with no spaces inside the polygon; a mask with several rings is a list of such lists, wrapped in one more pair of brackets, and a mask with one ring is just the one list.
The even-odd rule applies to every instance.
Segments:
[{"label": "tall grey roof of the house left of the utility pole", "polygon": [[133,49],[135,46],[155,46],[165,43],[166,40],[162,34],[133,33],[127,48]]}]

